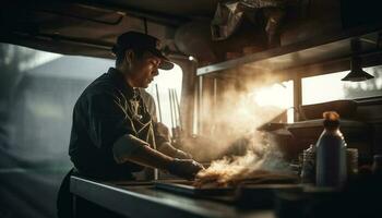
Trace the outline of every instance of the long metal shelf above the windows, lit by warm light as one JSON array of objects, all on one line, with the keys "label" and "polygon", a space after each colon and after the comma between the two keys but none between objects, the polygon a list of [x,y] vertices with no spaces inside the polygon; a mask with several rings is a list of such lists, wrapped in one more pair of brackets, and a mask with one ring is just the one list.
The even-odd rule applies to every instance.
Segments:
[{"label": "long metal shelf above the windows, lit by warm light", "polygon": [[219,73],[240,66],[250,66],[264,71],[283,71],[305,65],[323,63],[351,56],[350,40],[361,41],[360,56],[381,52],[382,26],[359,27],[345,31],[335,36],[312,38],[293,45],[287,45],[216,64],[199,68],[196,75]]}]

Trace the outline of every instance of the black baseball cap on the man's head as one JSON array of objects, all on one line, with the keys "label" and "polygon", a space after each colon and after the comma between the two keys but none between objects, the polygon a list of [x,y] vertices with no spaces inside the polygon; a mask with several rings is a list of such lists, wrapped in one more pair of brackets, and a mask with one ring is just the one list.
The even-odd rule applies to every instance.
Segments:
[{"label": "black baseball cap on the man's head", "polygon": [[127,32],[117,38],[117,44],[112,47],[111,51],[117,56],[124,52],[127,49],[140,49],[143,51],[150,51],[154,56],[162,59],[159,69],[171,70],[174,63],[163,53],[160,40],[154,36],[139,33]]}]

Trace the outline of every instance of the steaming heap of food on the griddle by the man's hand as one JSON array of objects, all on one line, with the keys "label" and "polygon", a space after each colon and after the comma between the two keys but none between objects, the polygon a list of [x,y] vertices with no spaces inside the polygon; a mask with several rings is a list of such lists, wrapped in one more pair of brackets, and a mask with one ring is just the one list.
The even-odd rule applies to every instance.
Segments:
[{"label": "steaming heap of food on the griddle by the man's hand", "polygon": [[252,138],[243,156],[225,156],[196,174],[196,187],[235,187],[242,183],[295,183],[298,177],[288,172],[288,164],[270,141]]}]

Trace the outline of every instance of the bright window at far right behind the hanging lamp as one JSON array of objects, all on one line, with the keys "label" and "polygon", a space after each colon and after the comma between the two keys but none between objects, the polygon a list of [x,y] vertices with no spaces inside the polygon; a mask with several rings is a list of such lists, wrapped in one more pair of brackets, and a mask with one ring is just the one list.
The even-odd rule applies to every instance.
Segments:
[{"label": "bright window at far right behind the hanging lamp", "polygon": [[302,78],[302,105],[382,95],[382,65],[363,68],[374,78],[365,82],[341,81],[349,71]]}]

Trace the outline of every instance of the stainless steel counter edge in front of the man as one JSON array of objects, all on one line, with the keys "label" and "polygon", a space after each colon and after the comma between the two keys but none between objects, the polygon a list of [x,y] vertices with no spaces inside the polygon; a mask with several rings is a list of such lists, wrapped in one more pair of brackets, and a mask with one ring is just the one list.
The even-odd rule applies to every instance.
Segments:
[{"label": "stainless steel counter edge in front of the man", "polygon": [[72,175],[71,193],[127,217],[275,217],[270,209],[240,209],[235,205],[156,190],[150,183],[98,182]]}]

